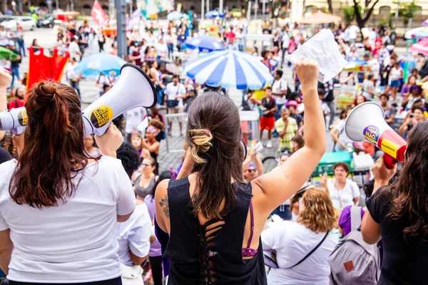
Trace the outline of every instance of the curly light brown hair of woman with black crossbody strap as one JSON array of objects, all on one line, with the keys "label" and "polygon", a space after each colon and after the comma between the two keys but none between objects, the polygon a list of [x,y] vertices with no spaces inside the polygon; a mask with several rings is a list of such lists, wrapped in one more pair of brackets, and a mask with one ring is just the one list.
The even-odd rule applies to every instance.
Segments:
[{"label": "curly light brown hair of woman with black crossbody strap", "polygon": [[320,188],[307,190],[302,196],[305,209],[300,212],[297,222],[313,232],[327,232],[337,224],[337,212],[333,207],[330,195]]}]

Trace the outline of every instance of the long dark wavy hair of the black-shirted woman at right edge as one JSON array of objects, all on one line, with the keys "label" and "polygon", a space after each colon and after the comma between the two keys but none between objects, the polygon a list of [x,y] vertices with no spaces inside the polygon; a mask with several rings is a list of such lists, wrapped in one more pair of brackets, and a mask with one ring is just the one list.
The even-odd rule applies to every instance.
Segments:
[{"label": "long dark wavy hair of the black-shirted woman at right edge", "polygon": [[404,238],[419,237],[428,241],[428,121],[410,131],[404,167],[398,182],[382,191],[391,197],[386,217],[404,217]]}]

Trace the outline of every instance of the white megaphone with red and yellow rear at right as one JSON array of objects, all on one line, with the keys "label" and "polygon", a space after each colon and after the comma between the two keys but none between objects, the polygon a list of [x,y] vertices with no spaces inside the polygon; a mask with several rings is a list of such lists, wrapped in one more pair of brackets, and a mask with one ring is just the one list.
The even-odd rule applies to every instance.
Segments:
[{"label": "white megaphone with red and yellow rear at right", "polygon": [[357,105],[346,119],[345,132],[351,140],[367,140],[383,150],[385,165],[389,169],[394,163],[404,161],[407,142],[385,122],[384,110],[377,103]]}]

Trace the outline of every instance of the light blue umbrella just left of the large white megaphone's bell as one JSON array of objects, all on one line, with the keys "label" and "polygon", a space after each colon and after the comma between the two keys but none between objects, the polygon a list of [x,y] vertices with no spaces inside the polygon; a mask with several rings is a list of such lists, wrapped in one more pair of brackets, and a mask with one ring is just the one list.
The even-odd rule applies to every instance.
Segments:
[{"label": "light blue umbrella just left of the large white megaphone's bell", "polygon": [[110,53],[95,53],[83,58],[76,66],[76,71],[79,71],[83,76],[98,76],[100,73],[108,74],[111,71],[120,74],[121,67],[125,63],[126,61],[123,61],[122,58]]}]

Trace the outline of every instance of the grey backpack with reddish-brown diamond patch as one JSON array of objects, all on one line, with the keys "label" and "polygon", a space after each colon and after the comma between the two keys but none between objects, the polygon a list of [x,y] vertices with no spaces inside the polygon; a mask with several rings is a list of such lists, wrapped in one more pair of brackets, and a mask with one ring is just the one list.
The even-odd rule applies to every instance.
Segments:
[{"label": "grey backpack with reddish-brown diamond patch", "polygon": [[379,249],[362,240],[361,207],[351,207],[351,232],[328,258],[330,284],[375,285],[380,276]]}]

